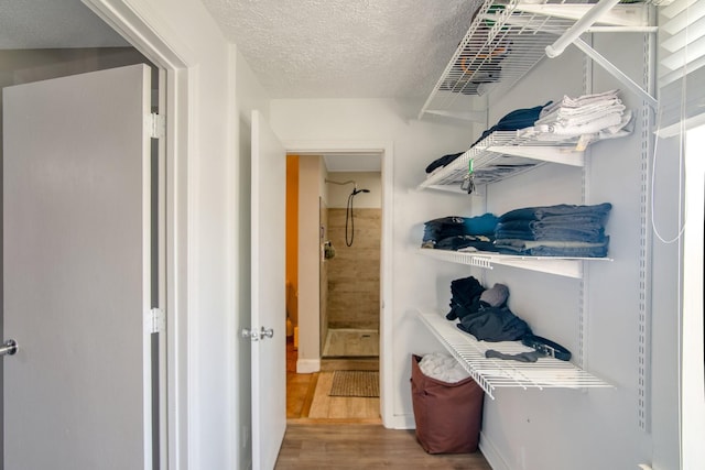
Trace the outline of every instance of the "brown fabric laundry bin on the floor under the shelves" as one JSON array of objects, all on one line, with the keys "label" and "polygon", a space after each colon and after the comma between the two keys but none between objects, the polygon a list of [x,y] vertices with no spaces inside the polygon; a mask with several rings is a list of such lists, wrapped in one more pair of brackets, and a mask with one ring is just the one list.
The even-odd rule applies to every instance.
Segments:
[{"label": "brown fabric laundry bin on the floor under the shelves", "polygon": [[477,450],[485,392],[467,378],[448,383],[430,378],[411,358],[411,395],[416,439],[429,453],[470,453]]}]

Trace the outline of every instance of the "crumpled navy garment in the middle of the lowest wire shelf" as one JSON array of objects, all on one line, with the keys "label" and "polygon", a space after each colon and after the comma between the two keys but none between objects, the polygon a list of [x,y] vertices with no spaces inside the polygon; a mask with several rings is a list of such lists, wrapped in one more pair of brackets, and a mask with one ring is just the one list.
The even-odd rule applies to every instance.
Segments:
[{"label": "crumpled navy garment in the middle of the lowest wire shelf", "polygon": [[457,327],[480,341],[516,341],[531,335],[529,325],[508,307],[485,307],[460,319]]}]

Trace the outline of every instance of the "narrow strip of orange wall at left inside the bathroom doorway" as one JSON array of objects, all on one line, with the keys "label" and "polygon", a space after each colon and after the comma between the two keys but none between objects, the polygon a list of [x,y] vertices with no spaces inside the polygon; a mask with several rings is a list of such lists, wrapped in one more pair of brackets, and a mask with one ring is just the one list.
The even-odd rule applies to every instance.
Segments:
[{"label": "narrow strip of orange wall at left inside the bathroom doorway", "polygon": [[[286,156],[286,281],[292,284],[293,293],[299,292],[299,155]],[[296,326],[296,297],[286,302],[291,321]]]}]

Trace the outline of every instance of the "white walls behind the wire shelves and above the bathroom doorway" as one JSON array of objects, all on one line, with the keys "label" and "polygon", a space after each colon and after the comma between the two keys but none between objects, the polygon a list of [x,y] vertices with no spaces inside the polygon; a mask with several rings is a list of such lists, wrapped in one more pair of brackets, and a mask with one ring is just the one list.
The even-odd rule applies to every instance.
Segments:
[{"label": "white walls behind the wire shelves and above the bathroom doorway", "polygon": [[[619,44],[619,47],[615,45]],[[643,41],[641,36],[603,36],[598,50],[641,81]],[[560,73],[557,73],[560,70]],[[553,61],[544,61],[522,83],[490,108],[490,124],[510,110],[543,105],[563,95],[583,94],[583,56],[575,48]],[[592,74],[594,91],[622,88],[604,70]],[[588,155],[585,173],[579,168],[545,165],[525,175],[489,188],[487,198],[465,198],[433,192],[419,193],[423,168],[437,156],[467,147],[486,125],[451,127],[419,122],[410,116],[409,103],[384,100],[273,100],[272,122],[283,140],[392,139],[393,325],[391,372],[392,419],[389,427],[413,426],[409,392],[411,353],[441,350],[414,319],[417,307],[447,309],[449,283],[469,274],[486,285],[502,282],[510,288],[510,307],[527,319],[539,335],[562,342],[583,357],[585,368],[614,384],[597,390],[502,389],[496,400],[486,400],[482,449],[496,469],[630,469],[649,463],[653,449],[664,446],[665,459],[673,449],[673,419],[676,413],[672,385],[657,376],[669,376],[675,345],[666,347],[659,337],[661,356],[654,361],[654,380],[648,387],[647,414],[658,409],[658,435],[639,426],[639,308],[640,308],[640,214],[642,184],[641,102],[629,90],[621,97],[637,112],[634,133],[626,139],[599,142]],[[459,149],[459,150],[458,150]],[[585,194],[583,181],[585,179]],[[669,188],[670,189],[670,188]],[[470,203],[469,200],[473,200]],[[608,232],[612,237],[612,262],[585,263],[586,278],[560,277],[509,267],[492,271],[464,269],[422,259],[414,254],[422,223],[435,217],[502,214],[517,207],[550,204],[614,205]],[[654,288],[662,286],[654,285]],[[672,286],[664,285],[665,292]],[[583,303],[583,296],[585,303]],[[671,296],[665,294],[665,300]],[[579,314],[584,310],[585,350],[581,351]],[[659,325],[672,331],[673,319],[658,314]],[[668,335],[670,334],[664,334]],[[584,353],[583,353],[584,352]],[[384,397],[383,397],[384,398]],[[653,416],[654,418],[657,416]],[[654,436],[658,437],[654,440]],[[664,467],[668,468],[668,467]]]}]

